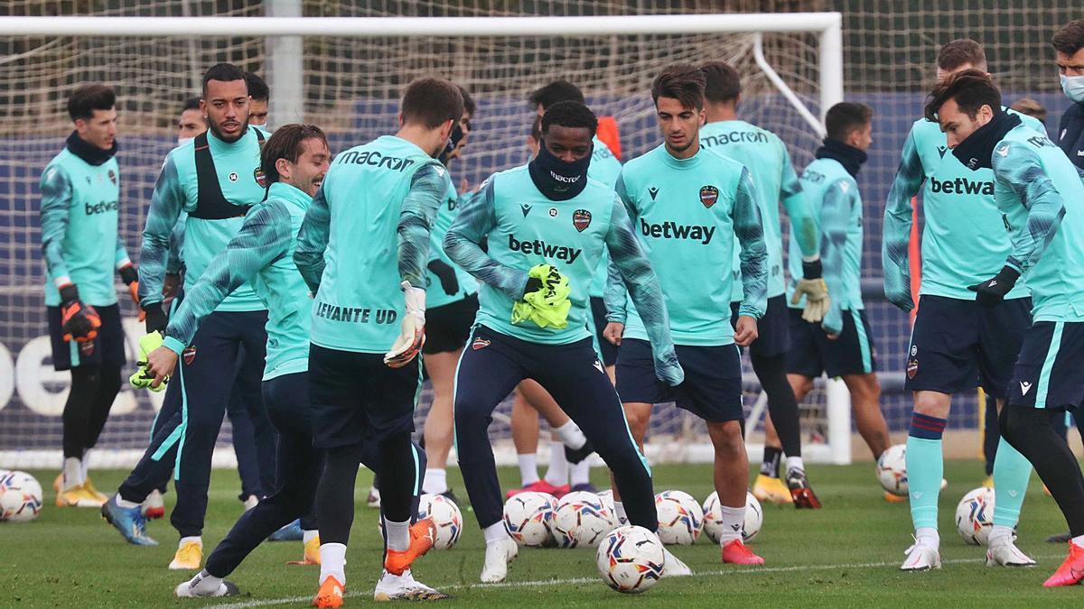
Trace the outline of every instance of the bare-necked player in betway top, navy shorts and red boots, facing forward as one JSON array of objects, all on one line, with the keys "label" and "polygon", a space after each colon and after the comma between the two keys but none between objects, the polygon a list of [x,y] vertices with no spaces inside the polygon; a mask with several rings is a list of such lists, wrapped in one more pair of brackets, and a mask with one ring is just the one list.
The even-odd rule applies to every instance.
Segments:
[{"label": "bare-necked player in betway top, navy shorts and red boots, facing forward", "polygon": [[[625,164],[617,182],[638,241],[658,270],[685,381],[668,388],[651,378],[645,311],[640,304],[627,311],[623,290],[614,280],[607,288],[606,335],[621,346],[617,392],[636,442],[643,442],[654,404],[676,400],[679,407],[702,418],[715,451],[722,561],[763,565],[764,559],[741,542],[749,462],[741,438],[741,360],[735,344],[748,347],[757,339],[757,320],[767,300],[767,251],[749,171],[700,146],[704,90],[704,73],[692,65],[668,67],[655,79],[651,99],[664,142]],[[735,243],[740,246],[745,300],[732,326]],[[628,278],[624,285],[632,287]],[[628,509],[624,495],[615,489],[614,500],[622,504],[619,516]]]}]

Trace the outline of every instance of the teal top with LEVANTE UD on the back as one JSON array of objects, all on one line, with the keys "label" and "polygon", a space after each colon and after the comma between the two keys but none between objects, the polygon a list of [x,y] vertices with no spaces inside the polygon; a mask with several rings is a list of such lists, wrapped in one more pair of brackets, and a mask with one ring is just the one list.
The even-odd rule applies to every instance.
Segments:
[{"label": "teal top with LEVANTE UD on the back", "polygon": [[315,295],[312,342],[385,353],[399,336],[399,284],[426,286],[443,165],[396,135],[339,153],[305,215],[294,261]]}]

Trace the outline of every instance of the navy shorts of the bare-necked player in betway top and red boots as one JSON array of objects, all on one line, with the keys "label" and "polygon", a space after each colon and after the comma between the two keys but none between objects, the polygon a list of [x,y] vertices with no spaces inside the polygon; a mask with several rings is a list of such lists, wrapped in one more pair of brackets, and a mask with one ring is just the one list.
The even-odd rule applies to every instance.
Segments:
[{"label": "navy shorts of the bare-necked player in betway top and red boots", "polygon": [[708,423],[741,420],[741,354],[736,345],[692,347],[678,345],[685,381],[670,387],[655,376],[655,359],[646,340],[627,338],[617,355],[617,394],[621,401],[661,404],[676,402]]}]

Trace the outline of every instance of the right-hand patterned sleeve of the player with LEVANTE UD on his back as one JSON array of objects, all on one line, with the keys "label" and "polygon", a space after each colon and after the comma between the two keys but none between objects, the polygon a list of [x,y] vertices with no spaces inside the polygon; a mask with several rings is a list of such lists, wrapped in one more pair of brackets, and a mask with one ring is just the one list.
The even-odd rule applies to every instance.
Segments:
[{"label": "right-hand patterned sleeve of the player with LEVANTE UD on his back", "polygon": [[431,163],[415,171],[399,212],[399,275],[414,287],[428,283],[429,230],[448,189],[447,172]]}]

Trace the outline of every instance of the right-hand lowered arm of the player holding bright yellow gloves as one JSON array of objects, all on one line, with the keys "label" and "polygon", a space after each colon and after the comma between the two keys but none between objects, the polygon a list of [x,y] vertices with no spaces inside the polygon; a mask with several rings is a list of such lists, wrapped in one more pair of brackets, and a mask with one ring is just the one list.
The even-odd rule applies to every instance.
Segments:
[{"label": "right-hand lowered arm of the player holding bright yellow gloves", "polygon": [[685,372],[678,363],[673,339],[670,337],[670,318],[667,303],[662,299],[659,277],[640,248],[632,222],[620,197],[614,199],[609,231],[606,232],[606,247],[614,267],[629,286],[629,296],[636,306],[636,312],[644,322],[651,344],[655,360],[655,375],[670,386],[681,385]]}]

